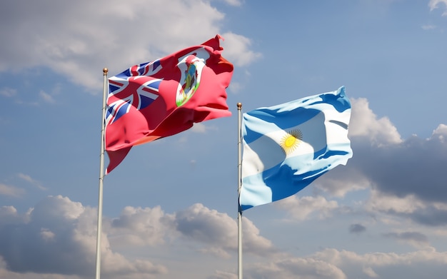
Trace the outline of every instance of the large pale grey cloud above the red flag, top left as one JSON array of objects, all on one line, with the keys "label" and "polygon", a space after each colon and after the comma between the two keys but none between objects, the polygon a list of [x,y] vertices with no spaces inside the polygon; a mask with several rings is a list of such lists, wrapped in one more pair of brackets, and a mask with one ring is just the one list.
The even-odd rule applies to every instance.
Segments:
[{"label": "large pale grey cloud above the red flag, top left", "polygon": [[[236,0],[226,3],[241,4]],[[204,0],[172,0],[169,5],[162,0],[56,4],[46,0],[26,5],[12,1],[1,9],[0,71],[49,68],[97,92],[104,67],[111,74],[119,73],[131,65],[201,44],[225,33],[220,30],[224,17]],[[249,44],[246,37],[228,33],[226,47],[234,61],[248,64],[256,57]]]}]

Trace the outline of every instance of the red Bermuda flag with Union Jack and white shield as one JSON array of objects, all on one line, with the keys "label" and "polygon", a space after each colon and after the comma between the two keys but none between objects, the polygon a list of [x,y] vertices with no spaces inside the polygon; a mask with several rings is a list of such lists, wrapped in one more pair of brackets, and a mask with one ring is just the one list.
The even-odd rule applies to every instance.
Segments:
[{"label": "red Bermuda flag with Union Jack and white shield", "polygon": [[132,146],[172,136],[194,123],[231,116],[226,88],[233,64],[221,36],[109,78],[106,151],[110,173]]}]

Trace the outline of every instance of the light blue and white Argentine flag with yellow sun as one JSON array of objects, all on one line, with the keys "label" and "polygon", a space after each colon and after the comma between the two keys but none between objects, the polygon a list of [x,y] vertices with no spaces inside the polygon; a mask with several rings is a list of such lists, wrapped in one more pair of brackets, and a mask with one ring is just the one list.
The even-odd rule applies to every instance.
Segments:
[{"label": "light blue and white Argentine flag with yellow sun", "polygon": [[346,165],[351,103],[336,91],[243,113],[241,210],[278,201]]}]

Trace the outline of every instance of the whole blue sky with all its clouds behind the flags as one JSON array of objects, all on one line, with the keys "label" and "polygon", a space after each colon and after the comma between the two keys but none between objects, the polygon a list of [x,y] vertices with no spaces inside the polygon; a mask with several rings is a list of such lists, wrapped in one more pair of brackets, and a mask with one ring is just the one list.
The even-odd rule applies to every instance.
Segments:
[{"label": "whole blue sky with all its clouds behind the flags", "polygon": [[0,278],[94,278],[103,69],[216,34],[232,116],[105,177],[101,278],[236,279],[236,103],[340,86],[353,158],[243,212],[243,277],[442,278],[446,0],[1,1]]}]

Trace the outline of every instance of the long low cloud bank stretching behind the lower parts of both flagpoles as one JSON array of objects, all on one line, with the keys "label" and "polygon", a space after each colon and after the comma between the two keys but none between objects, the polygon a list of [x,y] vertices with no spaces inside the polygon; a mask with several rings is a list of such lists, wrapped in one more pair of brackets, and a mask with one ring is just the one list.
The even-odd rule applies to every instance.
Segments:
[{"label": "long low cloud bank stretching behind the lower parts of both flagpoles", "polygon": [[[96,208],[62,196],[48,196],[22,215],[12,206],[1,207],[0,275],[9,274],[8,278],[14,278],[27,273],[51,278],[51,274],[58,274],[64,278],[91,278],[96,258],[96,214]],[[243,235],[244,253],[280,255],[271,241],[263,238],[246,218]],[[159,206],[127,206],[118,218],[104,217],[101,275],[112,279],[152,278],[169,273],[165,265],[129,259],[118,250],[135,252],[150,246],[161,251],[175,242],[186,245],[188,255],[192,250],[198,255],[229,258],[236,254],[236,239],[236,221],[200,203],[172,214],[164,213]]]}]

